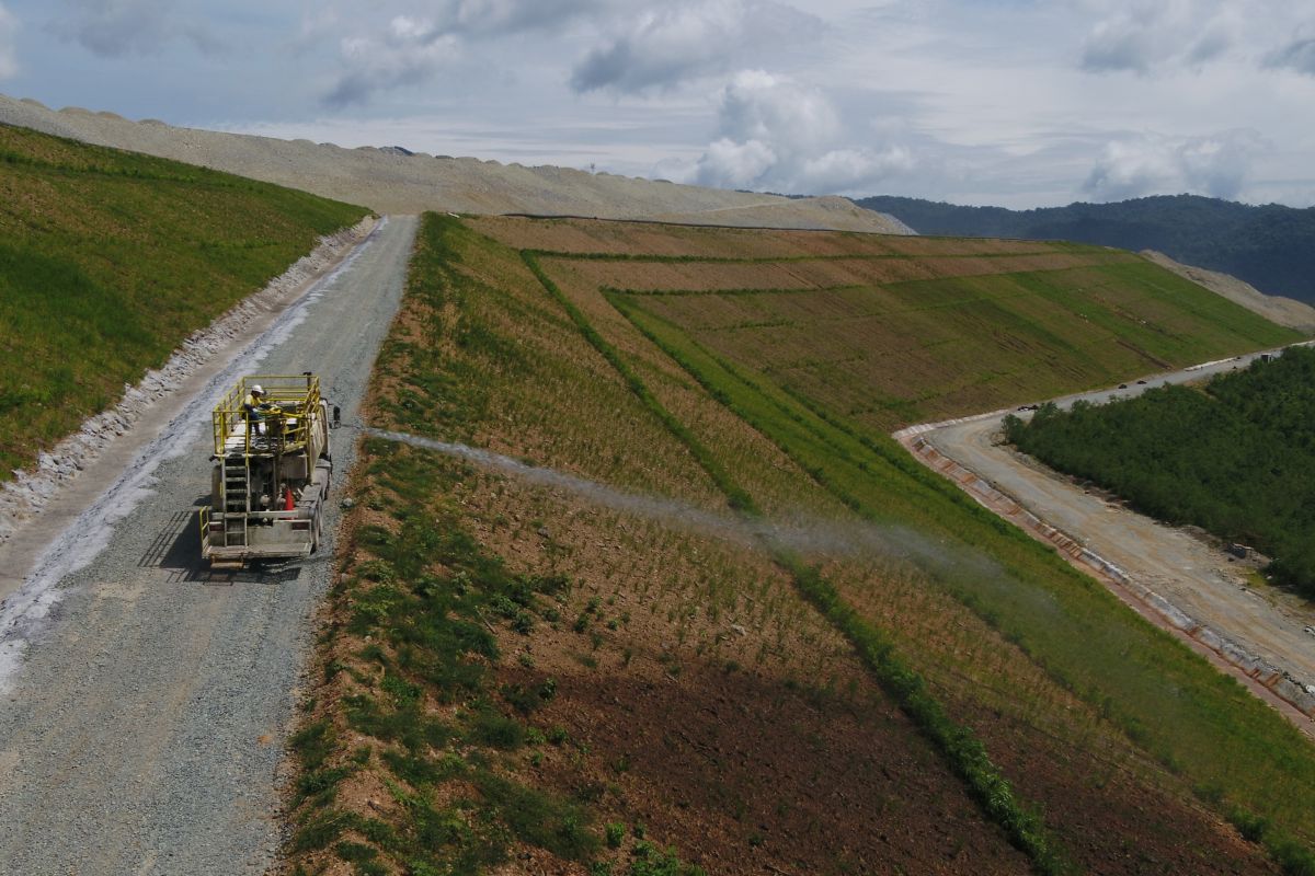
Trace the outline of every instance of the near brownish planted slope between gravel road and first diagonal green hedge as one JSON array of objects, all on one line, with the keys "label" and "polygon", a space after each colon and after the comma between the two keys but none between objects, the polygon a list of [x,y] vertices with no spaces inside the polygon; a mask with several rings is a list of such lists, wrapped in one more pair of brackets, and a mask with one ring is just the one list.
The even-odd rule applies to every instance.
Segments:
[{"label": "near brownish planted slope between gravel road and first diagonal green hedge", "polygon": [[[376,423],[726,508],[514,251],[429,217],[409,282]],[[852,872],[939,856],[924,844],[940,831],[952,869],[1023,867],[760,552],[364,450],[325,686],[296,739],[293,868],[481,872],[523,855],[681,872],[658,839],[711,872]]]}]

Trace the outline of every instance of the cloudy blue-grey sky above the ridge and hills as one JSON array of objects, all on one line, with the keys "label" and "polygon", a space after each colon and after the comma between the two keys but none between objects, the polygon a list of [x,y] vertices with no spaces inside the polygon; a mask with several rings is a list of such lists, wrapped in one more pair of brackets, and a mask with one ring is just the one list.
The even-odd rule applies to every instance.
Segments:
[{"label": "cloudy blue-grey sky above the ridge and hills", "polygon": [[1315,0],[0,0],[0,92],[772,192],[1315,204]]}]

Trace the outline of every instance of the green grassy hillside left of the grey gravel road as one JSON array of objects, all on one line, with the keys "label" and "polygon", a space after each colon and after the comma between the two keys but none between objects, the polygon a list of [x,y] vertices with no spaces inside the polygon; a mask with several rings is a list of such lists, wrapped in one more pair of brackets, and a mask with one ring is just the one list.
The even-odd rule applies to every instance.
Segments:
[{"label": "green grassy hillside left of the grey gravel road", "polygon": [[0,126],[0,481],[364,214]]}]

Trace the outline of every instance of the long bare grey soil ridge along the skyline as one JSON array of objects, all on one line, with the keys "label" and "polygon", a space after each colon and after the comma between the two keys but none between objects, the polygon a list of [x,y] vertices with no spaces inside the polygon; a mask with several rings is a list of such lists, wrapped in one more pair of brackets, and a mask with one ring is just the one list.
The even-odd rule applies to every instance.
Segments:
[{"label": "long bare grey soil ridge along the skyline", "polygon": [[37,101],[5,96],[0,96],[0,123],[241,173],[363,204],[379,213],[533,213],[906,232],[889,217],[838,197],[790,200],[560,167],[504,165],[423,152],[404,155],[388,148],[347,150],[331,143],[133,122],[113,113],[76,108],[55,112]]}]

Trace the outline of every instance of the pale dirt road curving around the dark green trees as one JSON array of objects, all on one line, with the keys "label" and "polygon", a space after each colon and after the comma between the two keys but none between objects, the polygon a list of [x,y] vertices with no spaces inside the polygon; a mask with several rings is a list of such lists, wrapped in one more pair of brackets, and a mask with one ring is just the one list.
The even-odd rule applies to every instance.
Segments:
[{"label": "pale dirt road curving around the dark green trees", "polygon": [[[1070,406],[1077,398],[1102,402],[1164,382],[1201,380],[1243,366],[1249,359],[1194,366],[1118,390],[1068,397],[1061,406]],[[1315,607],[1291,594],[1252,586],[1247,570],[1224,552],[1185,531],[1088,493],[1035,460],[1001,445],[1003,415],[998,411],[961,422],[914,427],[897,437],[906,447],[920,447],[918,439],[924,441],[926,447],[915,450],[924,461],[939,453],[984,479],[989,483],[986,489],[969,482],[984,504],[1006,514],[1022,506],[1024,515],[1031,512],[1061,531],[1063,535],[1056,536],[1059,540],[1068,536],[1077,542],[1077,549],[1085,548],[1115,566],[1115,574],[1122,573],[1130,584],[1122,588],[1122,595],[1139,594],[1145,608],[1143,613],[1180,633],[1190,633],[1195,644],[1206,645],[1253,682],[1265,683],[1269,691],[1307,716],[1315,712],[1311,708],[1315,703]],[[1003,495],[993,498],[990,487]],[[1019,515],[1015,511],[1010,516]],[[1291,711],[1287,712],[1293,717]],[[1295,720],[1310,724],[1301,716]]]}]

